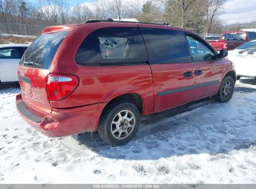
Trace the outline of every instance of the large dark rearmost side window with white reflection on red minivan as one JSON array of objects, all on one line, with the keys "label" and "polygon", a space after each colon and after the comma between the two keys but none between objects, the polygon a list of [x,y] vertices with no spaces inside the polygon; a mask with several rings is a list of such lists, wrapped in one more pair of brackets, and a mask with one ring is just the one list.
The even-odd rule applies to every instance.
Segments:
[{"label": "large dark rearmost side window with white reflection on red minivan", "polygon": [[138,27],[108,27],[83,40],[75,61],[82,65],[145,63],[148,55]]}]

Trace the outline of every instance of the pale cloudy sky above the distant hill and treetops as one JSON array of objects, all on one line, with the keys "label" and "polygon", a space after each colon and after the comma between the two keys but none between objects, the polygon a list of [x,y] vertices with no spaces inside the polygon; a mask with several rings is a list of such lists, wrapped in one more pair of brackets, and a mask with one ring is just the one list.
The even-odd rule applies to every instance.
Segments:
[{"label": "pale cloudy sky above the distant hill and treetops", "polygon": [[[38,0],[30,0],[37,3]],[[94,2],[95,0],[67,1],[70,5]],[[135,1],[135,0],[126,0]],[[256,0],[227,0],[224,4],[224,14],[220,16],[224,25],[256,21]]]}]

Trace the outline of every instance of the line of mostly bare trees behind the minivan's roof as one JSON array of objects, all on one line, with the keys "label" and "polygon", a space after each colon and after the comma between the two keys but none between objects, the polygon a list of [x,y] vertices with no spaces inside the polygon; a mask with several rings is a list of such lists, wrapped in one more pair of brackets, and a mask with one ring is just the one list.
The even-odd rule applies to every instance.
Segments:
[{"label": "line of mostly bare trees behind the minivan's roof", "polygon": [[[70,6],[64,0],[0,0],[0,22],[32,25],[82,23],[89,19],[135,18],[140,22],[169,23],[209,34],[224,30],[219,16],[226,0],[98,0]],[[8,27],[6,25],[6,27]]]}]

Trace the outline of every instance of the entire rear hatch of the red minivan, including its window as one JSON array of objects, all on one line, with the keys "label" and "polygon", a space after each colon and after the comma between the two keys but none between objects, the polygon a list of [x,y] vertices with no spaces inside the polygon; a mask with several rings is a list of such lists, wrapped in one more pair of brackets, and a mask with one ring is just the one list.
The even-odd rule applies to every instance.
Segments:
[{"label": "entire rear hatch of the red minivan, including its window", "polygon": [[54,55],[67,34],[64,31],[41,35],[21,58],[18,76],[22,99],[29,106],[28,109],[35,109],[39,114],[51,111],[46,79]]}]

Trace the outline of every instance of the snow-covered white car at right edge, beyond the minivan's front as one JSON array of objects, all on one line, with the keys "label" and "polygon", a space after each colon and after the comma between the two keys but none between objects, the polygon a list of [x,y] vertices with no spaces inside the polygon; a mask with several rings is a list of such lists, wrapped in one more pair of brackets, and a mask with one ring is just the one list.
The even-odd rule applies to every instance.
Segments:
[{"label": "snow-covered white car at right edge, beyond the minivan's front", "polygon": [[251,40],[234,50],[229,50],[227,58],[235,65],[237,78],[256,78],[256,40]]}]

